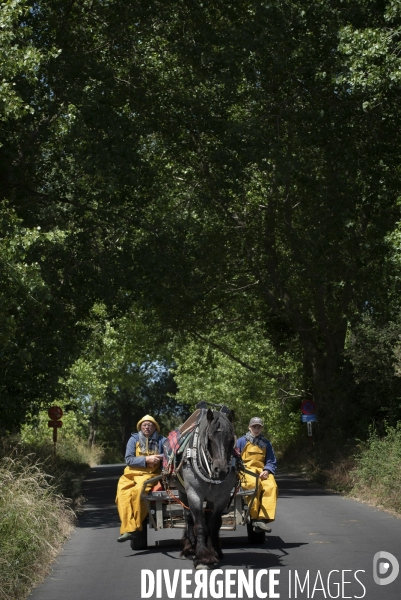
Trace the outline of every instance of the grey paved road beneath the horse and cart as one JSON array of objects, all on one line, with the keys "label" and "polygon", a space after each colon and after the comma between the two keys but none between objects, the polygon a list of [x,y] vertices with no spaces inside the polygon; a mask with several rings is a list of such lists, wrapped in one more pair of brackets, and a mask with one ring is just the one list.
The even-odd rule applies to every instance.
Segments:
[{"label": "grey paved road beneath the horse and cart", "polygon": [[[377,552],[389,552],[401,563],[401,519],[388,513],[281,475],[278,516],[264,545],[250,546],[244,527],[222,532],[223,572],[194,571],[179,556],[181,530],[149,532],[147,551],[133,552],[129,542],[116,543],[114,495],[122,470],[123,465],[107,465],[90,471],[79,527],[32,600],[236,598],[240,590],[243,598],[266,597],[266,592],[269,598],[284,599],[401,598],[401,573],[387,585],[373,580]],[[168,573],[161,572],[160,593],[156,585],[152,593],[150,579],[157,581],[157,570]],[[385,582],[393,572],[388,557],[379,559],[376,570]]]}]

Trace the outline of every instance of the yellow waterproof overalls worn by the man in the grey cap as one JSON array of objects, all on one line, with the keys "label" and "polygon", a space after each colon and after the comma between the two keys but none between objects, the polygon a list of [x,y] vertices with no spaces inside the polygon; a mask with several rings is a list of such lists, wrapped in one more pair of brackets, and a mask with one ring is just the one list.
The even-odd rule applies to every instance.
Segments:
[{"label": "yellow waterproof overalls worn by the man in the grey cap", "polygon": [[[242,451],[241,458],[246,469],[259,475],[265,466],[266,450],[247,442]],[[245,481],[241,483],[242,488],[244,490],[253,489],[256,485],[255,477],[244,473],[244,478]],[[247,496],[247,502],[249,502],[250,499],[251,496]],[[259,479],[259,494],[255,497],[251,506],[251,519],[267,519],[268,521],[274,521],[276,516],[276,504],[277,484],[274,476],[269,474],[267,479],[264,479],[263,481]]]}]

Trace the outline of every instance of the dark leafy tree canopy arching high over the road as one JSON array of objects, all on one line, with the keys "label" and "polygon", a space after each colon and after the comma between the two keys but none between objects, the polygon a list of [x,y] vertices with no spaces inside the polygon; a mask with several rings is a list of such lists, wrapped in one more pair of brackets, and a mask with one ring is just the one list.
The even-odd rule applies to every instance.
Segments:
[{"label": "dark leafy tree canopy arching high over the road", "polygon": [[4,426],[60,393],[102,303],[175,340],[186,399],[211,348],[241,394],[291,373],[341,429],[351,333],[398,314],[398,4],[1,8]]}]

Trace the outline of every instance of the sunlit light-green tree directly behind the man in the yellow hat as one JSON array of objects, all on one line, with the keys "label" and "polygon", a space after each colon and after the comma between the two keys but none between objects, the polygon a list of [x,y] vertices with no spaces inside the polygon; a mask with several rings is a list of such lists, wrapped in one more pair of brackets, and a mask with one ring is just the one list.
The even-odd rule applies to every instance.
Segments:
[{"label": "sunlit light-green tree directly behind the man in the yellow hat", "polygon": [[64,393],[87,415],[89,444],[100,441],[124,453],[144,414],[166,433],[188,416],[175,399],[168,350],[140,311],[113,320],[104,305],[96,305],[87,325],[92,335],[64,380]]}]

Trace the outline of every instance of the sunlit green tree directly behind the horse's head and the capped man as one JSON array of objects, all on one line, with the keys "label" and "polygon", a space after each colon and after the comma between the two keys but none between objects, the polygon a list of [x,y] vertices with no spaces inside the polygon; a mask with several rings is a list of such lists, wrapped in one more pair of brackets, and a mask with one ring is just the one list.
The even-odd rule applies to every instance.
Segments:
[{"label": "sunlit green tree directly behind the horse's head and the capped man", "polygon": [[262,328],[188,336],[174,356],[178,401],[192,408],[200,401],[228,406],[238,434],[247,430],[251,416],[260,416],[275,448],[299,433],[302,365],[288,351],[278,353]]}]

